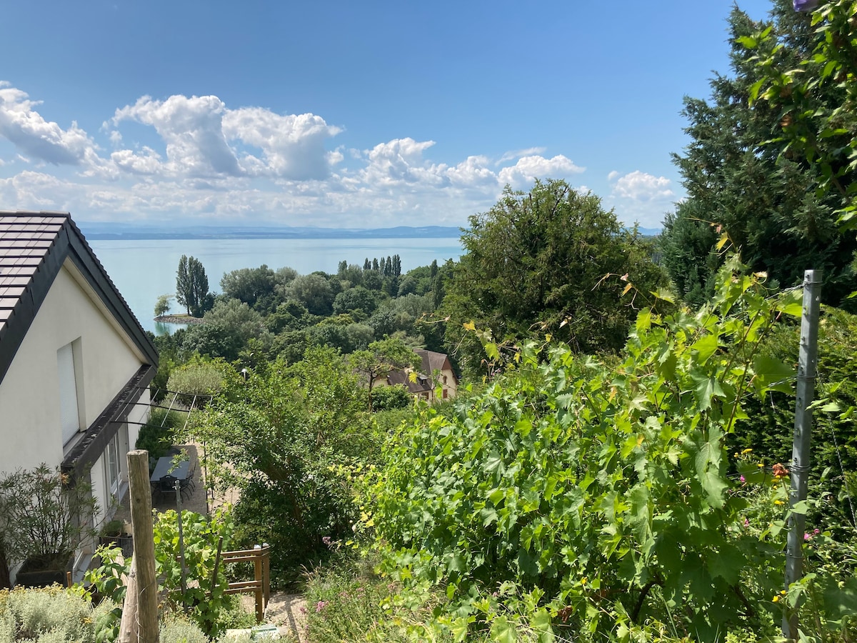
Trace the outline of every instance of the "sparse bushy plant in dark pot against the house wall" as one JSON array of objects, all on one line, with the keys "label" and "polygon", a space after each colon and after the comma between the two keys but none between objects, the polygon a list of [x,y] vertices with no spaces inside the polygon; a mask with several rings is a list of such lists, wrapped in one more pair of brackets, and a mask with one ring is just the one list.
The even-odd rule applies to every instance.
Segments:
[{"label": "sparse bushy plant in dark pot against the house wall", "polygon": [[0,478],[0,516],[7,560],[23,562],[22,586],[65,585],[78,544],[94,538],[98,502],[92,484],[42,464]]}]

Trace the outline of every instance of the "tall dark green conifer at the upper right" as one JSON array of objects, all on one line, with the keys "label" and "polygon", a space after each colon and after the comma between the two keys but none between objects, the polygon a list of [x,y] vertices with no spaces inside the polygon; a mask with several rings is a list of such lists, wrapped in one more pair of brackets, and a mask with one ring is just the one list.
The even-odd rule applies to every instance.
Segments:
[{"label": "tall dark green conifer at the upper right", "polygon": [[[824,6],[829,4],[839,3]],[[747,45],[762,46],[758,34],[753,35],[761,30],[764,43],[776,44],[776,56],[760,67],[758,52]],[[841,305],[857,288],[850,266],[857,241],[836,225],[836,211],[845,201],[841,193],[823,189],[824,168],[783,129],[797,127],[786,123],[798,120],[812,123],[815,133],[807,131],[806,136],[847,153],[842,135],[824,134],[817,116],[842,105],[842,90],[818,85],[802,93],[782,86],[780,93],[790,96],[787,103],[802,97],[800,109],[793,111],[770,101],[752,102],[775,69],[804,69],[813,58],[817,36],[789,0],[776,0],[772,19],[761,24],[734,8],[729,33],[731,75],[710,81],[709,100],[685,99],[685,131],[691,142],[684,153],[674,155],[674,163],[688,197],[664,222],[664,265],[686,300],[701,303],[713,290],[712,268],[722,261],[711,254],[712,237],[720,237],[721,244],[731,242],[740,249],[753,270],[767,272],[781,285],[799,284],[807,268],[821,269],[824,302]],[[776,94],[771,88],[765,95],[772,92]]]}]

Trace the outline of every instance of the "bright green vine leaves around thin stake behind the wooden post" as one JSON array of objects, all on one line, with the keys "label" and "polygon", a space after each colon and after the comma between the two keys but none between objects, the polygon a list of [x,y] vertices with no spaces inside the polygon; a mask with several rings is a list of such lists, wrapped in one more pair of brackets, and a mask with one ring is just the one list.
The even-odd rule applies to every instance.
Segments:
[{"label": "bright green vine leaves around thin stake behind the wooden post", "polygon": [[[232,599],[225,594],[229,581],[222,566],[214,580],[214,562],[221,538],[223,550],[231,547],[234,531],[231,514],[218,509],[207,518],[183,511],[182,530],[186,578],[195,582],[189,582],[182,591],[178,514],[170,510],[157,514],[154,523],[155,574],[159,590],[165,592],[166,605],[172,612],[187,608],[189,616],[208,636],[222,634],[225,629],[222,616],[232,609]],[[126,590],[123,577],[128,576],[131,561],[123,561],[122,551],[114,547],[99,548],[96,554],[101,558],[101,566],[87,572],[87,582],[121,604]]]}]

